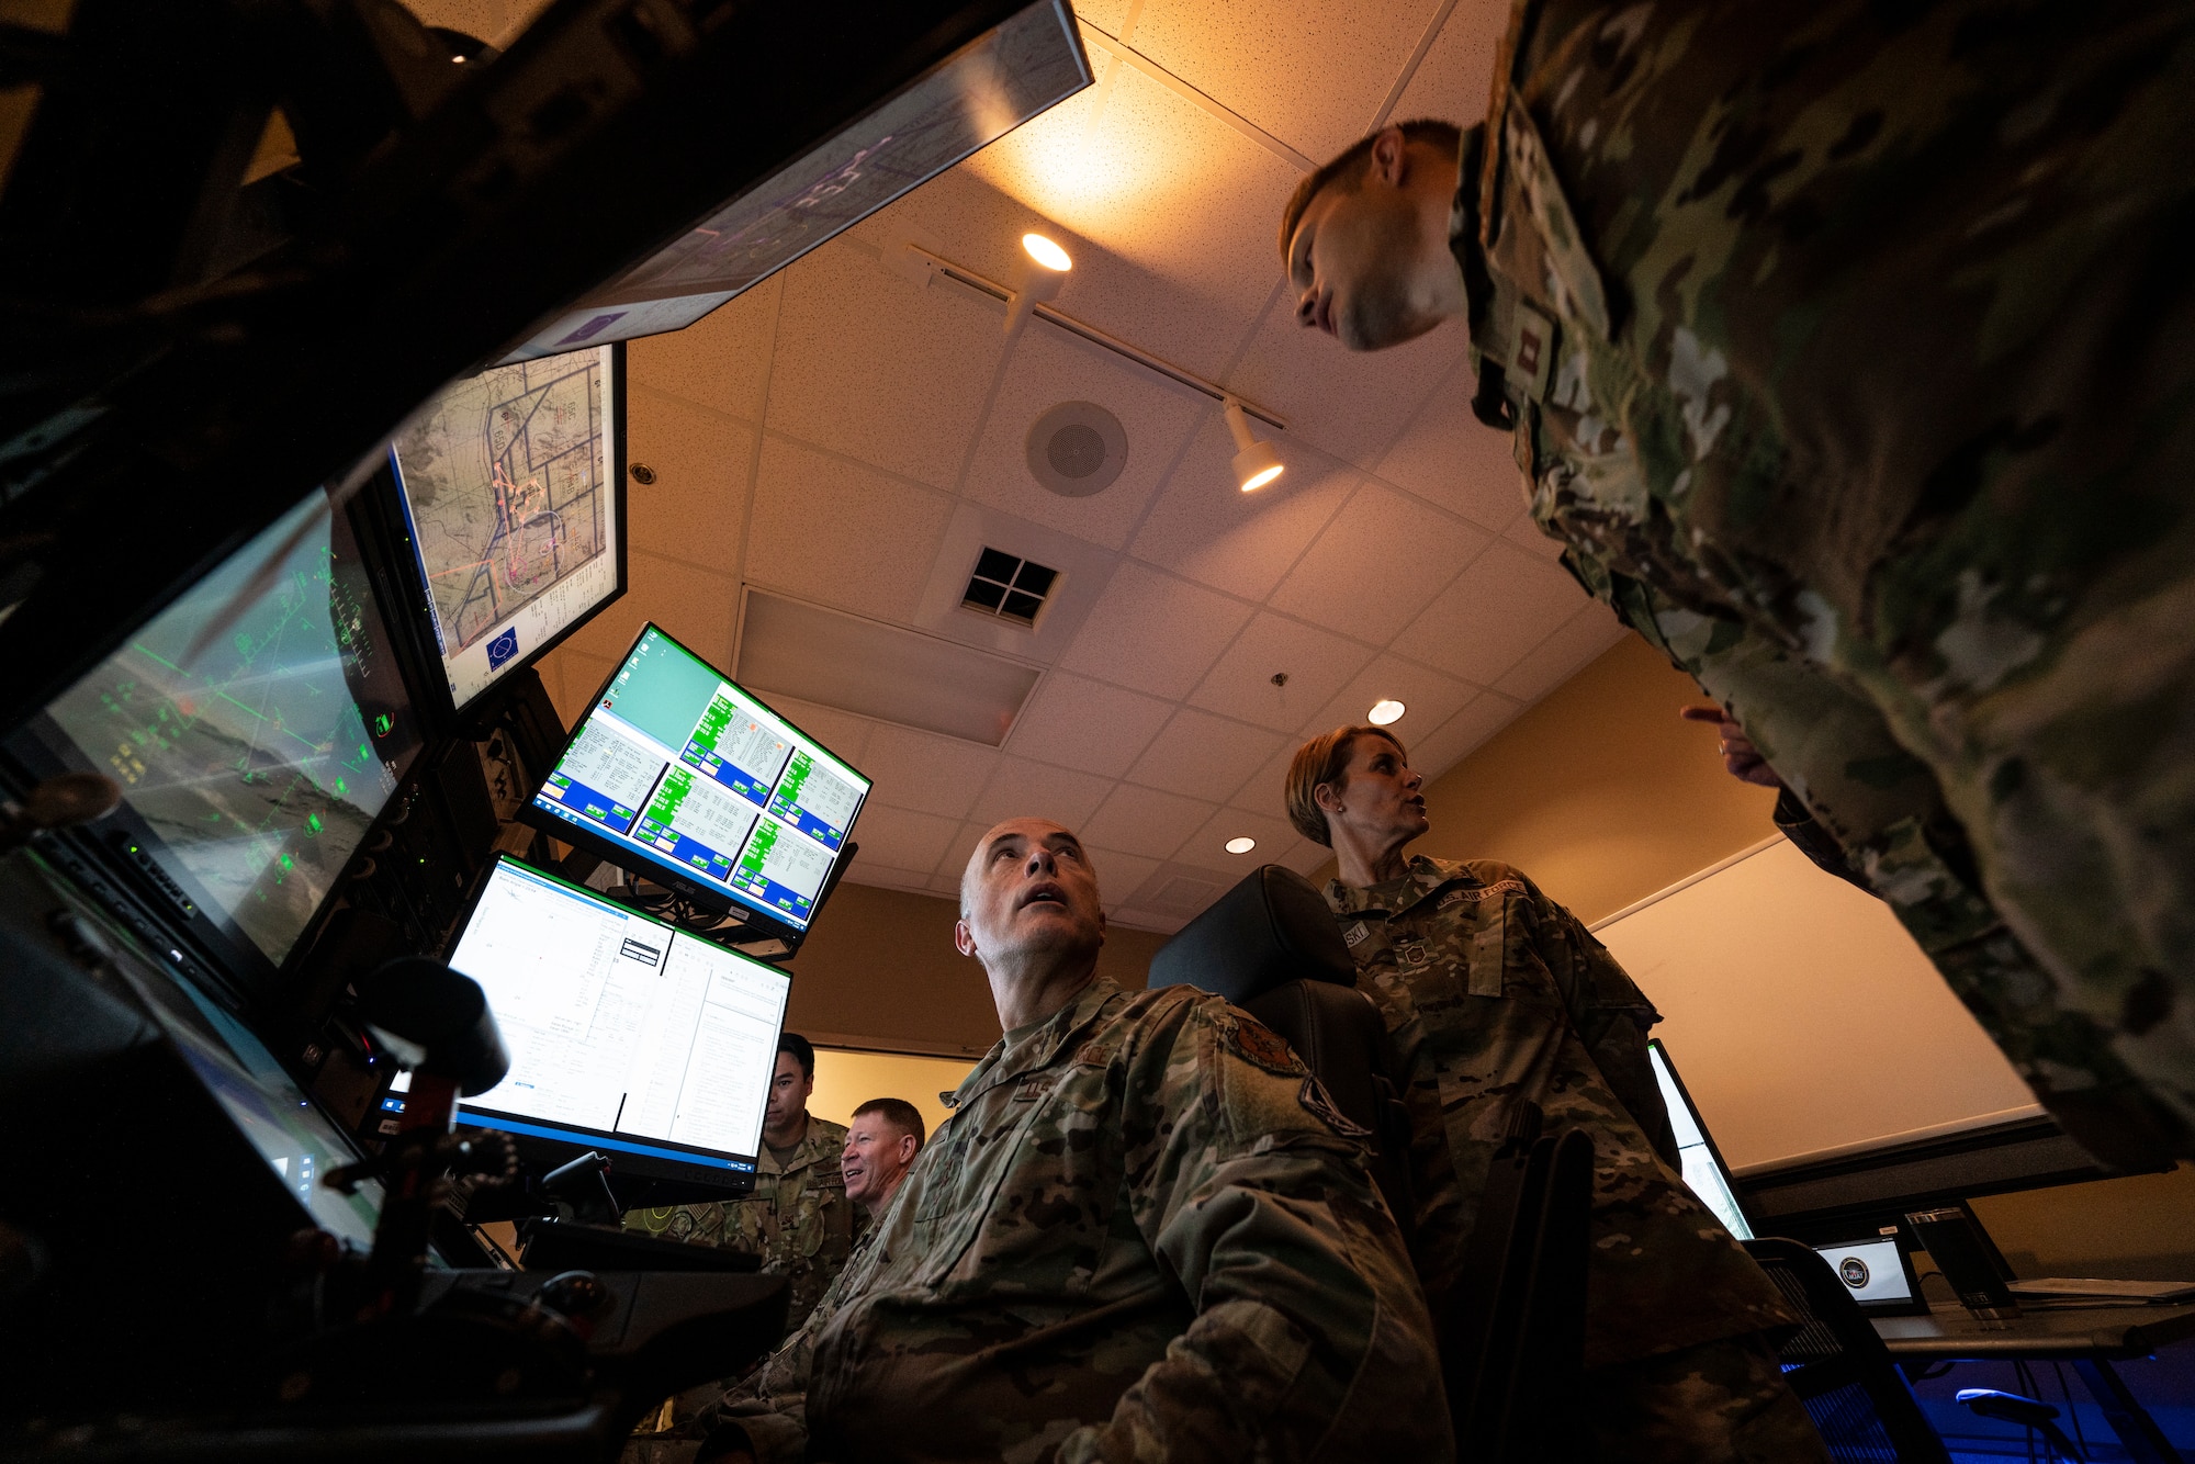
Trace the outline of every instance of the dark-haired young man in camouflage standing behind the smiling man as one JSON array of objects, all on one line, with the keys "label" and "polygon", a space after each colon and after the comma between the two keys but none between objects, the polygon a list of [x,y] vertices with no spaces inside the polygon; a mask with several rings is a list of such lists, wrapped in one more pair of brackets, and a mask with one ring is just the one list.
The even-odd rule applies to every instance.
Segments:
[{"label": "dark-haired young man in camouflage standing behind the smiling man", "polygon": [[799,1032],[777,1040],[777,1071],[762,1119],[755,1190],[729,1205],[658,1205],[626,1212],[626,1229],[665,1240],[720,1245],[762,1258],[770,1275],[792,1277],[786,1328],[799,1328],[845,1269],[854,1236],[869,1223],[847,1198],[838,1157],[845,1124],[808,1113],[817,1049]]}]

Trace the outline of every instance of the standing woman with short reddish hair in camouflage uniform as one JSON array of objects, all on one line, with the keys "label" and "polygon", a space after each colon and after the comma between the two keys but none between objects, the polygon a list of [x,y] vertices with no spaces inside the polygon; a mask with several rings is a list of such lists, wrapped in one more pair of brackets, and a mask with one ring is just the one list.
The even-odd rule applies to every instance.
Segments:
[{"label": "standing woman with short reddish hair in camouflage uniform", "polygon": [[[1405,858],[1422,779],[1378,727],[1306,742],[1288,821],[1335,849],[1326,902],[1409,1082],[1411,1251],[1447,1315],[1519,1104],[1594,1141],[1587,1407],[1598,1457],[1826,1460],[1782,1383],[1776,1284],[1684,1183],[1646,1056],[1646,994],[1578,920],[1490,860]],[[1471,1440],[1460,1440],[1466,1449]]]}]

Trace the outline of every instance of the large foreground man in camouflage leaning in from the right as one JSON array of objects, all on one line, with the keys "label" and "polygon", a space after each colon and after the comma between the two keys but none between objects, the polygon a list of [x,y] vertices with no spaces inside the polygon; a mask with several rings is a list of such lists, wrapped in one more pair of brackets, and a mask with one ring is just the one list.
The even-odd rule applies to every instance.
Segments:
[{"label": "large foreground man in camouflage leaning in from the right", "polygon": [[1572,571],[2123,1163],[2195,1155],[2191,94],[2184,2],[1526,0],[1282,246],[1466,320]]}]

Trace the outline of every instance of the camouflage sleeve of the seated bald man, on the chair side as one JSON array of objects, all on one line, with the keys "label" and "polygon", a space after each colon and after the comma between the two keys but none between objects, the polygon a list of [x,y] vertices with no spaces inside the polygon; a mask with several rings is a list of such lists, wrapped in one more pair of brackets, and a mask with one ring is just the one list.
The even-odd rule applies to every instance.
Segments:
[{"label": "camouflage sleeve of the seated bald man, on the chair side", "polygon": [[1234,1007],[1161,1027],[1128,1060],[1126,1172],[1196,1319],[1060,1464],[1453,1457],[1425,1299],[1348,1119]]}]

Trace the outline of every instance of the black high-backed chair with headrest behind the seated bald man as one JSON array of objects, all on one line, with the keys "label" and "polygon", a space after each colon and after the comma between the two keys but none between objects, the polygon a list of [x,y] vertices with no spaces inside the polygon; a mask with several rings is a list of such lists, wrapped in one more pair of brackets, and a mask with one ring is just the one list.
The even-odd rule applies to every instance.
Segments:
[{"label": "black high-backed chair with headrest behind the seated bald man", "polygon": [[1343,1117],[1372,1130],[1372,1179],[1409,1238],[1409,1113],[1387,1023],[1357,990],[1326,898],[1304,876],[1264,865],[1181,926],[1150,957],[1150,986],[1225,996],[1286,1038]]}]

